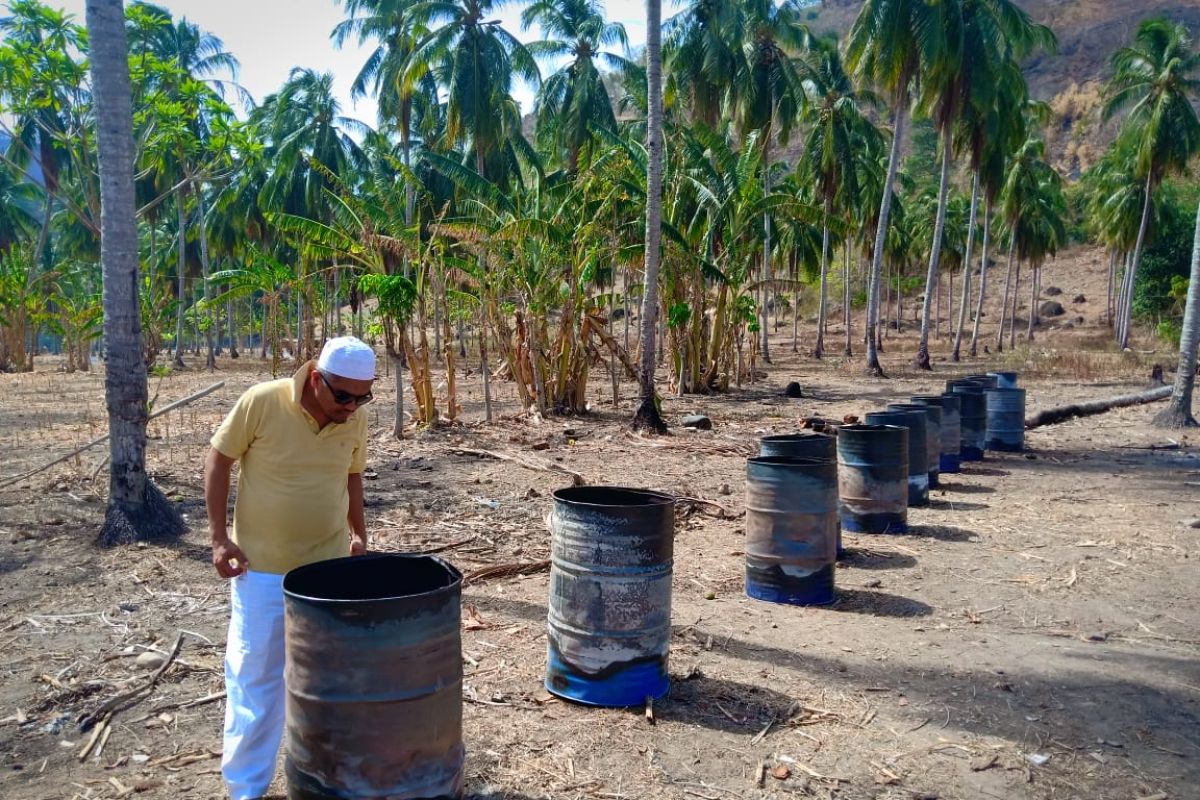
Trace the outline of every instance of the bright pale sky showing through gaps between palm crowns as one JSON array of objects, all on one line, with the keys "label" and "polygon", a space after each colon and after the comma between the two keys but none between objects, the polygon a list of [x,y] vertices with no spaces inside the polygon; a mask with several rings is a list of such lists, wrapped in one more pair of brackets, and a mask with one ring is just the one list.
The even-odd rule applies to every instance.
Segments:
[{"label": "bright pale sky showing through gaps between palm crowns", "polygon": [[[84,23],[84,0],[46,0]],[[224,41],[226,49],[241,61],[238,82],[256,101],[277,90],[293,67],[308,67],[332,72],[334,85],[342,112],[347,116],[376,124],[376,106],[371,100],[350,100],[350,83],[366,61],[370,47],[347,42],[342,49],[329,38],[334,26],[343,19],[342,6],[335,0],[157,0],[176,17],[186,17],[202,29]],[[539,37],[536,31],[521,31],[523,2],[502,6],[496,18],[522,41]],[[682,8],[682,0],[662,4],[664,18]],[[7,11],[6,0],[0,8]],[[641,0],[608,0],[605,4],[610,19],[625,25],[629,43],[640,48],[646,43],[646,7]],[[542,66],[544,74],[546,67]],[[521,85],[514,96],[522,112],[533,110],[533,90]]]}]

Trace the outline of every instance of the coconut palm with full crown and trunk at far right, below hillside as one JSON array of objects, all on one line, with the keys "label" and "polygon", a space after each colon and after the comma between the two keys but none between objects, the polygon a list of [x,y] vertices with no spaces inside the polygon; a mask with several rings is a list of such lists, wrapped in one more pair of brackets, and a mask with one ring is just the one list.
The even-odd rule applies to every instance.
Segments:
[{"label": "coconut palm with full crown and trunk at far right, below hillside", "polygon": [[1117,345],[1129,347],[1133,290],[1141,264],[1154,190],[1163,179],[1183,170],[1200,152],[1200,118],[1193,104],[1200,95],[1200,53],[1183,23],[1146,19],[1130,47],[1112,54],[1112,78],[1104,90],[1104,116],[1128,109],[1121,137],[1135,148],[1135,174],[1144,186],[1141,222],[1128,271],[1130,290],[1118,308]]}]

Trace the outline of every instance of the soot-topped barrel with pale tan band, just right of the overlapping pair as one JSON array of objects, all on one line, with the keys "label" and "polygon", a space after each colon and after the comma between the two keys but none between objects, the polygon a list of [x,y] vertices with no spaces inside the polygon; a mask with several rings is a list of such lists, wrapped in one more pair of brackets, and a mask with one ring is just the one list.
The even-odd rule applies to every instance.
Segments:
[{"label": "soot-topped barrel with pale tan band, just right of the overlapping pair", "polygon": [[838,432],[838,516],[844,530],[908,530],[908,428],[844,425]]}]

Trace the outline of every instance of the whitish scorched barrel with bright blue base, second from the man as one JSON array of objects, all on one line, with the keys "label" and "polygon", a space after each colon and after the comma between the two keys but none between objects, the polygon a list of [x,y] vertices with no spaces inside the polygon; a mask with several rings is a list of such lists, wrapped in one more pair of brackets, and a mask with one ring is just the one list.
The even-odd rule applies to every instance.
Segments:
[{"label": "whitish scorched barrel with bright blue base, second from the man", "polygon": [[641,705],[668,687],[674,499],[616,486],[554,492],[546,688]]}]

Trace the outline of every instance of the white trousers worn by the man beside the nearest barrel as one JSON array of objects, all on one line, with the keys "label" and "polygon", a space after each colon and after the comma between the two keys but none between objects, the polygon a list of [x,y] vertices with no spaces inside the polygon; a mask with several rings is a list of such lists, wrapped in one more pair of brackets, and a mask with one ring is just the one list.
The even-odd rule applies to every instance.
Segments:
[{"label": "white trousers worn by the man beside the nearest barrel", "polygon": [[230,585],[221,771],[230,800],[266,794],[283,740],[283,576],[245,572]]}]

